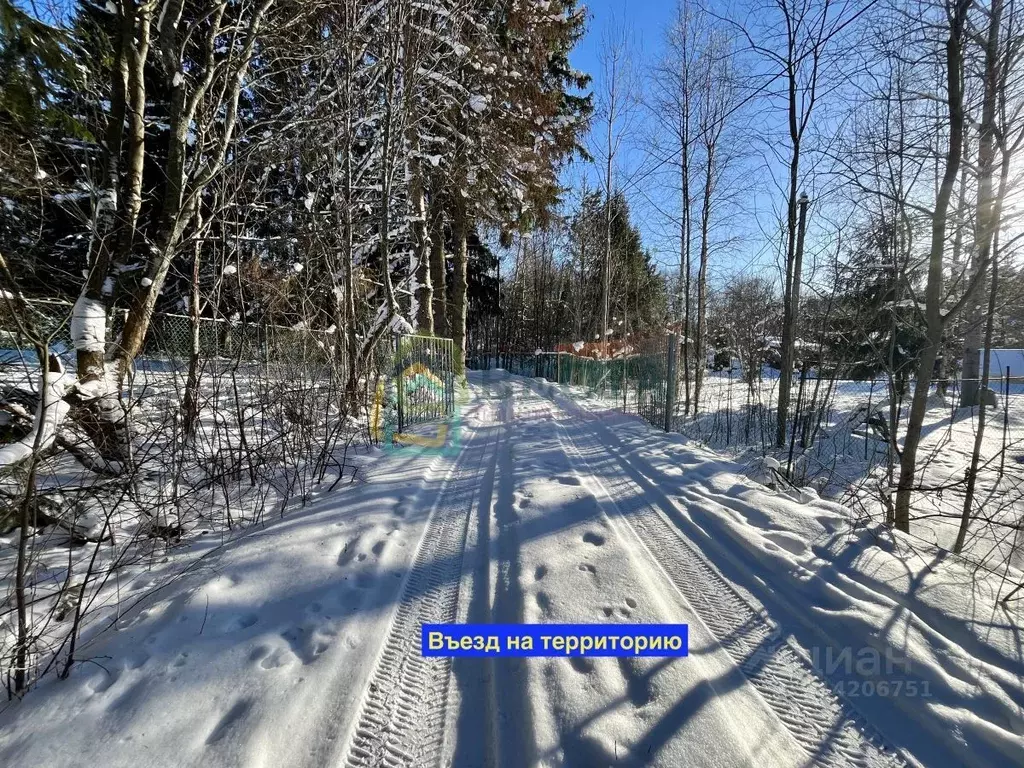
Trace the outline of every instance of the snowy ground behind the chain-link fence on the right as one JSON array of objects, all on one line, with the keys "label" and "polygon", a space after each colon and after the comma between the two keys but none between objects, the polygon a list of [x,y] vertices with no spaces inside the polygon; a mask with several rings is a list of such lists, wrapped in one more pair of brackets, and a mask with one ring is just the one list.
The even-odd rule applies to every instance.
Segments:
[{"label": "snowy ground behind the chain-link fence on the right", "polygon": [[[680,403],[685,393],[681,385],[674,428],[737,461],[751,464],[755,474],[760,467],[751,457],[766,451],[774,452],[774,458],[782,466],[787,465],[788,446],[778,451],[771,449],[772,437],[758,416],[763,410],[773,409],[777,401],[778,372],[765,367],[762,373],[760,381],[749,385],[734,373],[709,372],[696,418],[682,416]],[[874,382],[840,380],[829,390],[828,379],[820,381],[818,401],[825,402],[821,430],[806,451],[795,446],[796,480],[802,485],[813,485],[823,497],[850,504],[865,517],[881,520],[885,508],[880,495],[887,483],[888,471],[886,438],[866,427],[865,420],[869,412],[881,412],[888,420],[887,385],[881,378]],[[808,395],[815,396],[813,375],[808,382],[805,399]],[[1024,565],[1021,553],[1012,551],[1013,537],[1006,536],[1009,529],[1006,526],[1015,525],[1024,515],[1024,498],[1018,490],[1024,465],[1016,459],[1021,455],[1024,386],[1019,380],[1012,380],[1010,397],[1004,398],[1002,385],[1001,380],[993,379],[992,388],[1000,393],[1000,408],[997,416],[990,418],[982,444],[979,482],[983,490],[980,498],[988,503],[985,510],[977,510],[983,514],[972,526],[965,549],[965,554],[976,563],[997,570],[1011,557],[1016,567]],[[799,391],[800,383],[795,381],[794,402]],[[827,394],[823,394],[826,391]],[[606,398],[613,399],[613,395],[609,393]],[[964,473],[971,463],[978,424],[977,409],[957,409],[957,402],[955,391],[950,391],[948,398],[935,391],[929,395],[919,451],[919,477],[925,487],[945,487],[946,490],[918,494],[912,500],[913,514],[918,518],[912,525],[914,537],[946,550],[952,548],[956,539],[964,505]],[[900,409],[901,434],[905,430],[907,411],[908,401],[904,399]]]}]

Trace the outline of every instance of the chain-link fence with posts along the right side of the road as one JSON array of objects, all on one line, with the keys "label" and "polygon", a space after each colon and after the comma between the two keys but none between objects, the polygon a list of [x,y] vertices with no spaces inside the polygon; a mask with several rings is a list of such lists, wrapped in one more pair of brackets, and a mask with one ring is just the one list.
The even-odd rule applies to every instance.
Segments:
[{"label": "chain-link fence with posts along the right side of the road", "polygon": [[[702,367],[698,376],[695,360],[677,362],[682,350],[676,344],[662,337],[612,359],[567,352],[503,354],[475,358],[471,367],[500,367],[578,387],[608,408],[740,458],[766,482],[813,487],[866,517],[884,516],[891,508],[912,380],[853,379],[838,369],[805,369],[794,378],[779,442],[777,371],[743,371],[730,361],[718,371]],[[983,391],[984,424],[979,404],[962,406],[962,380],[936,383],[929,394],[913,529],[951,549],[969,509],[972,526],[964,551],[972,561],[981,567],[1024,566],[1024,548],[1018,546],[1024,544],[1024,377],[993,369],[986,387],[976,383]]]}]

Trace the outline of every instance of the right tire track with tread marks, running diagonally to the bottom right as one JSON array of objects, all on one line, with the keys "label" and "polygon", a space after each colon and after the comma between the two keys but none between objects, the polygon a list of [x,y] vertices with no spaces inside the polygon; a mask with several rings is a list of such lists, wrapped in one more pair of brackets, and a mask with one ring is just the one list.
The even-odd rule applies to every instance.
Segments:
[{"label": "right tire track with tread marks, running diagonally to the bottom right", "polygon": [[[611,511],[628,524],[796,741],[807,750],[813,764],[835,768],[906,765],[882,735],[849,702],[837,696],[790,646],[765,611],[751,605],[666,518],[666,513],[646,501],[647,489],[629,477],[625,460],[599,439],[596,429],[581,416],[582,410],[573,404],[579,413],[569,413],[547,389],[542,386],[539,393],[568,422],[583,427],[579,432],[585,437],[579,439],[563,421],[554,420],[559,441],[571,446],[566,455],[571,454],[570,460],[583,465],[585,474],[603,493],[604,500],[599,502],[610,502]],[[621,465],[618,471],[595,469],[588,455],[607,456]],[[630,499],[641,501],[635,510],[627,511],[624,504]]]}]

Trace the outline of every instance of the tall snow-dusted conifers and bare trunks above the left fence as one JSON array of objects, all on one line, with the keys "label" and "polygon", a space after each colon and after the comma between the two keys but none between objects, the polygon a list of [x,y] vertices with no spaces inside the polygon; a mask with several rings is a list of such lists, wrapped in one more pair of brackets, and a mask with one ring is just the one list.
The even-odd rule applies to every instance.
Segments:
[{"label": "tall snow-dusted conifers and bare trunks above the left fence", "polygon": [[469,262],[548,218],[591,111],[574,0],[0,18],[4,288],[77,302],[85,381],[123,377],[156,310],[335,331],[352,382],[389,328],[464,346]]}]

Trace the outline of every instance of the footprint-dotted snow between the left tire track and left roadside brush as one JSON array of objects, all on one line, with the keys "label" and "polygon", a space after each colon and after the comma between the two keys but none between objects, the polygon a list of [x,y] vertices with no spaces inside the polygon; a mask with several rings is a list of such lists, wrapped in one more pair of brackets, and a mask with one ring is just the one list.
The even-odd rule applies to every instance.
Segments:
[{"label": "footprint-dotted snow between the left tire track and left roadside brush", "polygon": [[[297,743],[329,748],[344,726],[333,718],[358,707],[423,529],[422,509],[396,510],[428,465],[371,473],[344,505],[324,498],[275,529],[210,537],[127,575],[125,608],[84,644],[95,663],[0,715],[0,763],[296,765]],[[33,712],[54,722],[33,724]],[[67,738],[44,736],[56,723]]]}]

